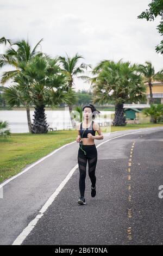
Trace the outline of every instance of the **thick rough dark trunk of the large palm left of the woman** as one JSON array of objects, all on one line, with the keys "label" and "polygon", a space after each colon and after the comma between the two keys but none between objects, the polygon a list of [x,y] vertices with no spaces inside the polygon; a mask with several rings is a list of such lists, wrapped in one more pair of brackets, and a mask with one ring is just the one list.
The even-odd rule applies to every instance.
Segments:
[{"label": "thick rough dark trunk of the large palm left of the woman", "polygon": [[32,133],[47,133],[48,124],[46,122],[45,106],[35,107],[34,122],[31,124]]}]

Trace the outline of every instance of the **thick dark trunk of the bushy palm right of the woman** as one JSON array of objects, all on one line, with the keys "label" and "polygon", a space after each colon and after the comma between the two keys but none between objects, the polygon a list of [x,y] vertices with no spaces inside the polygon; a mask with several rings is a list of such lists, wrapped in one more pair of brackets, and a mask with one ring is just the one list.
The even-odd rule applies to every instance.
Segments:
[{"label": "thick dark trunk of the bushy palm right of the woman", "polygon": [[112,124],[114,126],[125,126],[126,125],[126,117],[124,115],[123,103],[118,103],[115,105],[115,118]]}]

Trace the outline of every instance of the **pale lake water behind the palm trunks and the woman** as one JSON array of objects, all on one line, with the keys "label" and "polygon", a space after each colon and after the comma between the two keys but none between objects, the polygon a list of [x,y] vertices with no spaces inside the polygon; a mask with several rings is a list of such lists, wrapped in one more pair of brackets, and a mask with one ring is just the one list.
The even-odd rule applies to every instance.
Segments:
[{"label": "pale lake water behind the palm trunks and the woman", "polygon": [[[75,112],[73,111],[73,113]],[[111,113],[114,113],[114,111],[101,111],[101,115],[106,114],[106,118],[99,115],[95,121],[104,125],[104,122],[111,121]],[[34,111],[30,111],[30,119],[32,123],[34,118],[33,114]],[[68,110],[47,110],[45,111],[45,114],[47,123],[53,130],[68,130],[72,128],[70,112]],[[74,117],[74,119],[77,123],[80,121],[78,112],[76,112],[76,117]],[[8,121],[10,124],[9,129],[13,133],[29,132],[26,110],[2,110],[0,111],[0,120]]]}]

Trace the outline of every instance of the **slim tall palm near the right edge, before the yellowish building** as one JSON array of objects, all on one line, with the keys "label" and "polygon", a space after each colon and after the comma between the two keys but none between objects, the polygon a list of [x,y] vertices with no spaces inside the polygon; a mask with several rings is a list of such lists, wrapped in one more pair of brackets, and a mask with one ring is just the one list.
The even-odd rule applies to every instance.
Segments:
[{"label": "slim tall palm near the right edge, before the yellowish building", "polygon": [[152,86],[153,81],[160,81],[163,80],[162,71],[158,71],[155,73],[154,66],[152,66],[151,62],[145,62],[145,65],[140,64],[138,66],[138,70],[143,74],[144,82],[148,83],[149,92],[150,92],[150,99],[149,104],[153,103],[153,93],[152,93]]}]

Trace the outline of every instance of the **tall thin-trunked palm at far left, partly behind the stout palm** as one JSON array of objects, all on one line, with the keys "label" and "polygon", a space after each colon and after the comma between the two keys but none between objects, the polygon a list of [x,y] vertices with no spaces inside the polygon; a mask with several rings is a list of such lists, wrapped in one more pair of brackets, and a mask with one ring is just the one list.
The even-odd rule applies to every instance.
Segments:
[{"label": "tall thin-trunked palm at far left, partly behind the stout palm", "polygon": [[[4,40],[4,39],[3,39]],[[43,39],[41,39],[35,47],[32,50],[32,47],[29,44],[29,41],[21,40],[16,41],[11,44],[11,47],[8,48],[8,50],[5,52],[5,54],[0,54],[0,68],[3,66],[9,64],[11,66],[14,66],[15,70],[6,71],[3,72],[1,83],[4,84],[10,79],[14,79],[14,77],[20,73],[20,71],[24,70],[28,62],[34,57],[34,56],[42,56],[42,52],[37,51],[37,47],[40,45],[40,42]],[[13,46],[17,46],[17,50],[13,48]],[[24,89],[27,87],[28,84],[24,81]],[[30,120],[30,105],[28,104],[28,101],[21,102],[24,106],[26,106],[26,112],[27,112],[27,121],[28,121],[28,129],[30,132],[31,127],[31,120]]]}]

